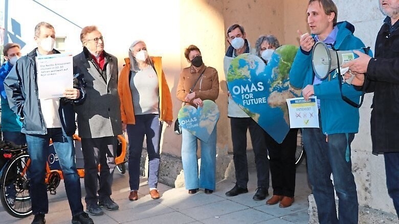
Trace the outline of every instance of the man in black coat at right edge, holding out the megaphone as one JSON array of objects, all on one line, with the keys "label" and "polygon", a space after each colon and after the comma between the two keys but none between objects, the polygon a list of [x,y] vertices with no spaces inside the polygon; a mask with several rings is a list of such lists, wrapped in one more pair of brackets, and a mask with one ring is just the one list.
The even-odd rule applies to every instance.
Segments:
[{"label": "man in black coat at right edge, holding out the megaphone", "polygon": [[399,216],[399,1],[380,0],[380,9],[387,17],[375,41],[375,57],[356,52],[359,58],[345,67],[355,76],[353,85],[374,92],[372,152],[384,154],[388,194]]}]

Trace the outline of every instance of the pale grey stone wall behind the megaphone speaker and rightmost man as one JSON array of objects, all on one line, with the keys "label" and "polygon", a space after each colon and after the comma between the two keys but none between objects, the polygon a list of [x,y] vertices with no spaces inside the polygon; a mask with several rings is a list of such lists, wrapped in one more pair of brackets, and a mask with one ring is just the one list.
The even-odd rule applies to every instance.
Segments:
[{"label": "pale grey stone wall behind the megaphone speaker and rightmost man", "polygon": [[[376,0],[358,1],[336,0],[338,20],[351,22],[354,34],[374,51],[375,37],[385,16],[380,12]],[[353,10],[356,9],[356,10]],[[360,129],[352,142],[352,169],[358,189],[359,204],[385,212],[395,213],[388,196],[385,179],[384,157],[371,154],[370,113],[373,94],[366,94],[360,108]]]}]

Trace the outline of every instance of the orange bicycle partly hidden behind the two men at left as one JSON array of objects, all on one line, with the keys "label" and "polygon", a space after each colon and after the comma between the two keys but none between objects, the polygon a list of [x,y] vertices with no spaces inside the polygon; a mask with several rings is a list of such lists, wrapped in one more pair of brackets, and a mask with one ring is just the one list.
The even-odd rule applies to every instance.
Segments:
[{"label": "orange bicycle partly hidden behind the two men at left", "polygon": [[[75,154],[77,163],[77,172],[80,178],[84,178],[84,169],[82,161],[79,161],[81,155],[80,138],[74,135]],[[123,174],[126,171],[126,140],[122,135],[118,136],[118,149],[115,163],[117,169]],[[52,143],[50,143],[52,147]],[[23,218],[32,214],[31,197],[29,194],[29,165],[31,160],[28,154],[27,146],[8,145],[0,150],[6,163],[1,170],[0,176],[0,201],[5,211],[10,215]],[[80,164],[79,164],[80,163]],[[78,165],[79,164],[79,165]],[[47,191],[50,194],[56,194],[56,189],[61,180],[63,180],[62,170],[59,168],[57,155],[50,148],[50,155],[46,164]],[[10,200],[10,194],[13,200]]]}]

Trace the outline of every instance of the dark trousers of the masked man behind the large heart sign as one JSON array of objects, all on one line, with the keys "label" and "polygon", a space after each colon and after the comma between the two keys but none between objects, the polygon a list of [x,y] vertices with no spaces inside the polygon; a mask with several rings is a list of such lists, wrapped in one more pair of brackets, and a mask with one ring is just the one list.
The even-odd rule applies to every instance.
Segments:
[{"label": "dark trousers of the masked man behind the large heart sign", "polygon": [[251,117],[230,117],[231,139],[233,141],[233,160],[236,184],[247,188],[247,130],[249,129],[255,154],[258,187],[269,189],[269,159],[265,142],[265,131]]}]

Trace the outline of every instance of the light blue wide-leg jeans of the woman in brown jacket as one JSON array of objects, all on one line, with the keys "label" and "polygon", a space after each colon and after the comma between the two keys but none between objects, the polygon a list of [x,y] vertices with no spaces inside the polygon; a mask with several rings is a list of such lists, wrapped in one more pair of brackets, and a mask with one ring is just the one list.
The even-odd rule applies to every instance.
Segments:
[{"label": "light blue wide-leg jeans of the woman in brown jacket", "polygon": [[201,168],[198,178],[197,137],[182,129],[182,163],[186,189],[216,189],[216,126],[208,142],[201,142]]}]

